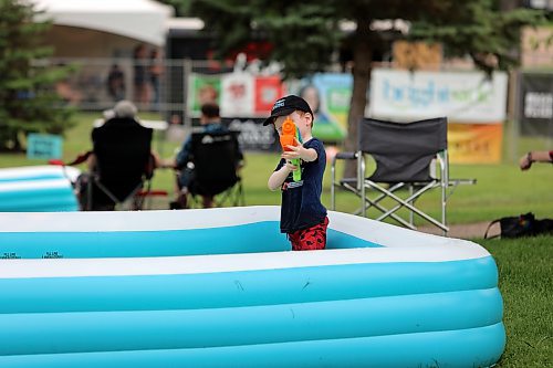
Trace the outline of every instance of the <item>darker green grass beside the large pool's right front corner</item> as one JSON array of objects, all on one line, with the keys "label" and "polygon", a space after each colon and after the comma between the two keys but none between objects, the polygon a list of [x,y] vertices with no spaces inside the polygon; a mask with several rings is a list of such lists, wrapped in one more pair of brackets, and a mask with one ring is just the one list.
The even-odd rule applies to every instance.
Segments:
[{"label": "darker green grass beside the large pool's right front corner", "polygon": [[495,259],[507,349],[498,367],[553,367],[553,235],[478,241]]}]

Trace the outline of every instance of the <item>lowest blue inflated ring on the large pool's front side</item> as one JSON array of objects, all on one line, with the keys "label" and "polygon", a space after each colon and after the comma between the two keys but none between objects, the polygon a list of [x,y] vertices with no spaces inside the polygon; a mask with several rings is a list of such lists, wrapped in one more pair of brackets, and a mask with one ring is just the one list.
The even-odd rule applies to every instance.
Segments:
[{"label": "lowest blue inflated ring on the large pool's front side", "polygon": [[[239,333],[239,332],[237,332]],[[435,333],[257,344],[0,357],[2,368],[490,367],[505,346],[502,323]]]}]

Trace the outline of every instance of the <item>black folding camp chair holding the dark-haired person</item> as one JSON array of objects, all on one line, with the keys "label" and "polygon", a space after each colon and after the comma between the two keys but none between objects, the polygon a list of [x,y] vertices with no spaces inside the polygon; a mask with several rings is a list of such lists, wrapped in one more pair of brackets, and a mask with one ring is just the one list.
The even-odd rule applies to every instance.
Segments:
[{"label": "black folding camp chair holding the dark-haired person", "polygon": [[237,132],[192,134],[194,176],[188,187],[192,207],[199,207],[198,196],[213,198],[216,207],[244,206],[242,179],[237,172],[242,161],[237,135]]}]

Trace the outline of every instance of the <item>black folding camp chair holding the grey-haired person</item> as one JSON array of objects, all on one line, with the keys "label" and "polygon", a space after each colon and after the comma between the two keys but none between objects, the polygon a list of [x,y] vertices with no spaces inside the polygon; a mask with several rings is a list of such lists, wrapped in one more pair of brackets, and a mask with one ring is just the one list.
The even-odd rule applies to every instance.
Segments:
[{"label": "black folding camp chair holding the grey-haired person", "polygon": [[83,210],[143,208],[154,175],[152,136],[134,118],[114,117],[92,130],[95,169],[88,175]]}]

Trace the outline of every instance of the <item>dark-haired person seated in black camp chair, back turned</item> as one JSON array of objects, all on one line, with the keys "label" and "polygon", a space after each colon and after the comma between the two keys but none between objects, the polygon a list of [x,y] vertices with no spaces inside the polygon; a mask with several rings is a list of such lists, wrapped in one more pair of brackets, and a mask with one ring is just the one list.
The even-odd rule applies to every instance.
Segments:
[{"label": "dark-haired person seated in black camp chair, back turned", "polygon": [[[228,133],[230,132],[225,125],[221,123],[221,117],[219,114],[219,106],[215,103],[206,103],[201,106],[201,116],[200,116],[200,125],[202,133]],[[191,136],[189,136],[180,148],[180,151],[177,154],[175,159],[170,162],[167,162],[165,167],[173,167],[174,169],[180,170],[180,174],[177,176],[177,191],[178,196],[175,202],[171,203],[171,209],[182,209],[187,208],[187,196],[190,193],[190,187],[194,182],[194,162],[191,161]],[[237,169],[242,166],[243,155],[239,150],[237,153],[237,157],[239,157],[239,161],[237,162]],[[201,196],[202,197],[202,206],[204,208],[213,207],[213,197],[211,196]]]}]

